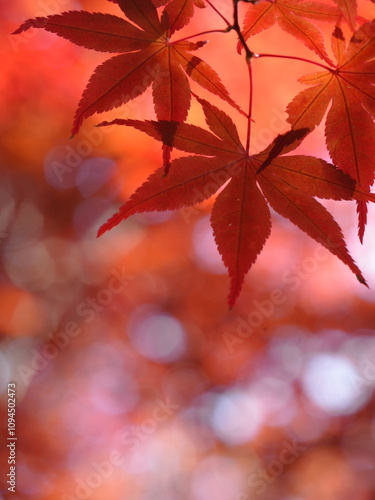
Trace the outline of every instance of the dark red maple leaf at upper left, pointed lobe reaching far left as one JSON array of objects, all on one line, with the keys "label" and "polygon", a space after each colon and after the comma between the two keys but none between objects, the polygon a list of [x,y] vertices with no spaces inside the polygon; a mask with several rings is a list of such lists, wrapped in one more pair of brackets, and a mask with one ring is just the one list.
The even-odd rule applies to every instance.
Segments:
[{"label": "dark red maple leaf at upper left, pointed lobe reaching far left", "polygon": [[205,42],[170,40],[171,33],[187,24],[194,5],[202,6],[201,0],[172,0],[161,19],[151,0],[110,1],[134,24],[110,14],[69,11],[29,19],[14,32],[43,28],[88,49],[121,54],[91,76],[75,114],[73,135],[85,118],[127,103],[150,85],[158,119],[184,121],[191,100],[188,77],[240,110],[217,73],[191,54]]}]

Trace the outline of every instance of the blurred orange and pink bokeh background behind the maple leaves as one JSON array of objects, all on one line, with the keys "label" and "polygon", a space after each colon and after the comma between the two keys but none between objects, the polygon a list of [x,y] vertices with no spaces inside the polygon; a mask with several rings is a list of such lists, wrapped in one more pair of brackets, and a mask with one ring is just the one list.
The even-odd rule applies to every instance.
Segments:
[{"label": "blurred orange and pink bokeh background behind the maple leaves", "polygon": [[[231,19],[231,2],[215,2]],[[212,200],[96,231],[155,168],[160,144],[131,128],[151,93],[86,120],[82,90],[108,57],[25,19],[110,2],[2,2],[0,74],[0,499],[370,500],[375,498],[375,210],[362,247],[355,206],[327,202],[367,290],[340,261],[274,215],[272,235],[228,311]],[[241,4],[241,17],[246,6]],[[374,5],[359,2],[370,18]],[[330,27],[320,24],[329,46]],[[175,36],[225,28],[207,8]],[[234,33],[199,56],[248,103]],[[315,55],[280,29],[255,52]],[[254,61],[254,150],[287,130],[286,105],[315,71]],[[246,122],[227,104],[242,137]],[[196,102],[190,123],[205,127]],[[320,127],[300,147],[327,159]],[[174,153],[179,156],[178,152]],[[7,387],[16,386],[16,493],[6,474]]]}]

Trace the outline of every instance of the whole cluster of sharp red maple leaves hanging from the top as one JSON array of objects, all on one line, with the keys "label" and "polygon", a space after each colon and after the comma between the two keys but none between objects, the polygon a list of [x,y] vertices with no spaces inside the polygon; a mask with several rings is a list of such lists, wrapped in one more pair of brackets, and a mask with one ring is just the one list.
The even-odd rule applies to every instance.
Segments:
[{"label": "whole cluster of sharp red maple leaves hanging from the top", "polygon": [[[218,74],[192,54],[205,42],[171,40],[176,31],[189,24],[195,7],[213,7],[211,2],[109,1],[118,4],[127,20],[70,11],[30,19],[15,32],[44,28],[86,48],[120,53],[101,64],[90,78],[76,111],[73,134],[85,118],[118,107],[152,86],[157,121],[117,119],[111,124],[135,127],[161,141],[163,168],[149,177],[99,234],[137,212],[199,203],[226,184],[216,198],[211,223],[231,278],[230,306],[269,237],[269,206],[340,258],[365,284],[340,227],[315,197],[356,200],[362,240],[366,204],[375,201],[369,190],[375,157],[375,21],[358,18],[356,0],[335,0],[332,5],[261,0],[248,6],[239,49],[252,35],[277,22],[325,63],[320,64],[325,71],[301,78],[312,87],[288,105],[290,131],[276,137],[263,152],[250,155],[250,141],[242,145],[231,118],[199,97],[210,132],[185,123],[192,96],[188,78],[243,113]],[[234,9],[237,3],[234,0]],[[336,64],[327,54],[316,20],[333,24]],[[353,31],[348,44],[340,27],[343,21]],[[356,28],[358,23],[361,25]],[[229,25],[227,31],[234,28]],[[322,121],[329,105],[325,130],[333,164],[310,156],[283,156]],[[247,118],[251,120],[251,116]],[[193,156],[170,162],[172,148]]]}]

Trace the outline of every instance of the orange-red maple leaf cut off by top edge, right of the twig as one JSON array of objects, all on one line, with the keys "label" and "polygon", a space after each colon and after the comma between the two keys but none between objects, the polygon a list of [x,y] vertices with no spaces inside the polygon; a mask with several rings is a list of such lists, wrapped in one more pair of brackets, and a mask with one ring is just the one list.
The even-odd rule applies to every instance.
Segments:
[{"label": "orange-red maple leaf cut off by top edge, right of the twig", "polygon": [[308,19],[336,22],[339,17],[340,13],[336,7],[318,2],[263,0],[248,7],[244,19],[243,36],[247,40],[250,36],[271,28],[277,22],[280,28],[332,64],[324,47],[321,31]]}]

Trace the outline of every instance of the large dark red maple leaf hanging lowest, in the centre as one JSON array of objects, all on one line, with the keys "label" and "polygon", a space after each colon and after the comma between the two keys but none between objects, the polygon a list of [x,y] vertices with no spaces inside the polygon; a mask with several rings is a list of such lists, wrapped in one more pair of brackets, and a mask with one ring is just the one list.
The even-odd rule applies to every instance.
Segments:
[{"label": "large dark red maple leaf hanging lowest, in the centre", "polygon": [[[262,153],[250,156],[229,116],[199,99],[211,132],[173,124],[173,146],[195,154],[177,158],[167,176],[156,170],[100,229],[98,235],[138,212],[173,210],[200,203],[230,181],[217,196],[211,216],[214,237],[231,286],[232,307],[271,231],[269,205],[340,258],[365,283],[346,248],[341,229],[314,196],[369,199],[333,165],[308,156],[279,156],[293,150],[308,130],[278,136]],[[171,123],[121,120],[101,125],[130,125],[165,142]],[[373,198],[375,199],[375,197]]]}]

